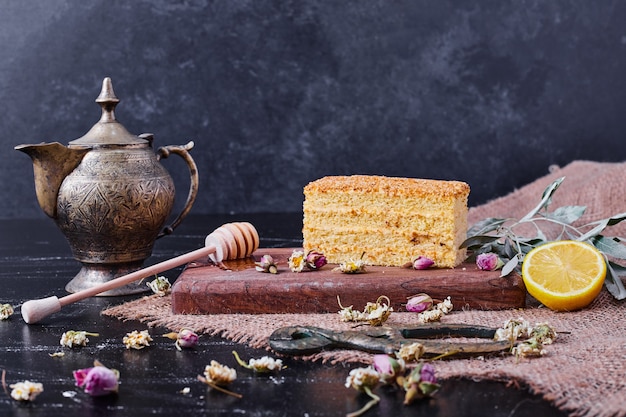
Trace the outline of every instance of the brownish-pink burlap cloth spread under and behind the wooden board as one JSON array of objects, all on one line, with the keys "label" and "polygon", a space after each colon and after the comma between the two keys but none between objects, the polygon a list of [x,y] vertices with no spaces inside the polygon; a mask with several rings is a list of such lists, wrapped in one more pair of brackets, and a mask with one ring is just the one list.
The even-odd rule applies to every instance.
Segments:
[{"label": "brownish-pink burlap cloth spread under and behind the wooden board", "polygon": [[[556,178],[566,179],[555,194],[553,207],[586,205],[583,221],[592,221],[626,211],[623,180],[626,164],[577,161],[551,172],[513,193],[470,210],[470,223],[485,217],[519,218],[538,202],[543,190]],[[620,235],[614,226],[610,235]],[[360,308],[359,306],[355,306]],[[349,329],[335,314],[224,314],[175,315],[170,298],[149,296],[111,307],[103,312],[122,320],[138,320],[148,326],[177,331],[182,327],[221,336],[256,348],[268,348],[273,330],[290,325],[315,325]],[[559,334],[547,346],[547,354],[535,359],[505,355],[486,359],[450,359],[437,362],[441,379],[465,377],[475,380],[514,382],[572,416],[626,416],[626,308],[606,290],[588,308],[571,313],[556,313],[546,308],[501,311],[453,311],[444,322],[481,324],[500,327],[505,320],[522,317],[531,323],[548,322]],[[410,325],[412,313],[393,313],[387,324]],[[371,362],[364,352],[334,350],[303,360],[330,363]]]}]

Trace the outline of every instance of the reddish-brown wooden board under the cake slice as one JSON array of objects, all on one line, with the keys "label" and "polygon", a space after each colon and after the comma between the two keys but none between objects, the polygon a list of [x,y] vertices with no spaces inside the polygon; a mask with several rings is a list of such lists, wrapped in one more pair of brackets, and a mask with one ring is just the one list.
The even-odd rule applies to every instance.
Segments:
[{"label": "reddish-brown wooden board under the cake slice", "polygon": [[[501,278],[499,271],[481,271],[475,264],[454,269],[368,266],[363,274],[343,274],[328,264],[317,271],[295,273],[287,260],[293,248],[259,249],[245,260],[226,261],[225,268],[194,262],[172,287],[175,314],[336,313],[344,306],[363,310],[381,295],[395,311],[405,311],[407,297],[427,293],[450,296],[455,309],[499,310],[525,306],[526,289],[518,274]],[[258,272],[255,260],[271,255],[278,274]]]}]

